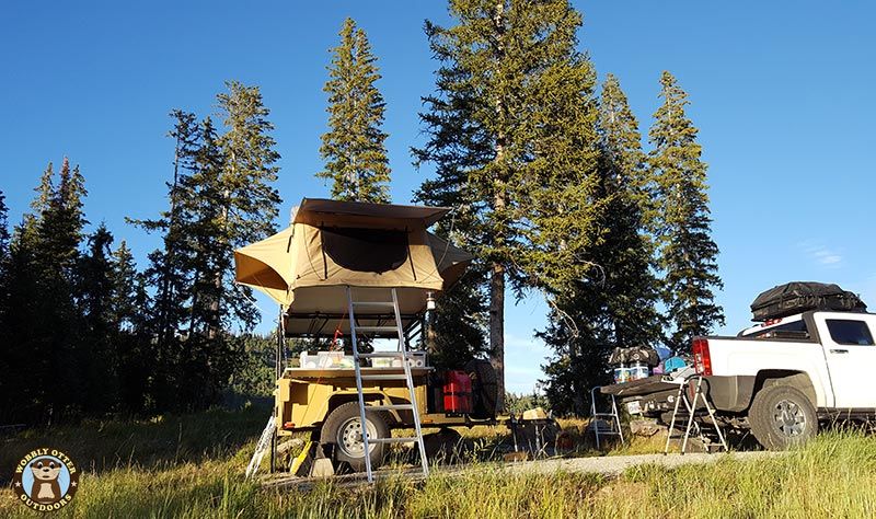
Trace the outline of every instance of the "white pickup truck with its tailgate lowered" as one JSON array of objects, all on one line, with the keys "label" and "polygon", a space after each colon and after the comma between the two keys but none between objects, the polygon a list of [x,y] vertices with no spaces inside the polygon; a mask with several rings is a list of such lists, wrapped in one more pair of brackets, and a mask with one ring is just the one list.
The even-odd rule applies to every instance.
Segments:
[{"label": "white pickup truck with its tailgate lowered", "polygon": [[[750,428],[763,447],[782,450],[815,436],[819,423],[876,417],[874,332],[876,314],[808,311],[736,337],[696,337],[693,365],[724,425]],[[615,394],[666,422],[671,387],[627,385]]]}]

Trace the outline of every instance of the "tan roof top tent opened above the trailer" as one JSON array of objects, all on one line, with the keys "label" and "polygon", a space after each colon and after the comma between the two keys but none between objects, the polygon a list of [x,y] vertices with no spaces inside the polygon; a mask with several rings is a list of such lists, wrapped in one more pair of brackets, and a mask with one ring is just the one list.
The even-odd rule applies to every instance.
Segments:
[{"label": "tan roof top tent opened above the trailer", "polygon": [[[474,258],[426,230],[449,210],[304,198],[291,226],[234,251],[237,280],[283,307],[287,336],[348,334],[346,287],[360,301],[395,288],[406,325]],[[394,321],[385,310],[356,315],[360,325]]]}]

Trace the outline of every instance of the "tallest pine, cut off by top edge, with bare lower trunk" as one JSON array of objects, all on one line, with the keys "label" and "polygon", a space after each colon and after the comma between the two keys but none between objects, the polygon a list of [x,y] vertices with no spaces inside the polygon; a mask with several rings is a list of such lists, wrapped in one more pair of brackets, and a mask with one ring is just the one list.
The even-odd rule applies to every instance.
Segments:
[{"label": "tallest pine, cut off by top edge, with bare lower trunk", "polygon": [[502,400],[506,281],[562,290],[587,269],[578,255],[596,165],[595,78],[575,49],[580,14],[565,0],[451,0],[449,10],[457,25],[426,24],[441,67],[415,155],[435,163],[431,185],[460,192],[471,215],[461,230],[488,269]]}]

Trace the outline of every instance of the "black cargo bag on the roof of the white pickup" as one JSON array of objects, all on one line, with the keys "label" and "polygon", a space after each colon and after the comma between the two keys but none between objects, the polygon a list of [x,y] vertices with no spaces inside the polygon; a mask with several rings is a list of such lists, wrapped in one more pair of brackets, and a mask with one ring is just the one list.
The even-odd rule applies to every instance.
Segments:
[{"label": "black cargo bag on the roof of the white pickup", "polygon": [[866,309],[861,298],[839,285],[812,281],[779,285],[751,303],[752,321],[785,318],[808,310],[863,312]]}]

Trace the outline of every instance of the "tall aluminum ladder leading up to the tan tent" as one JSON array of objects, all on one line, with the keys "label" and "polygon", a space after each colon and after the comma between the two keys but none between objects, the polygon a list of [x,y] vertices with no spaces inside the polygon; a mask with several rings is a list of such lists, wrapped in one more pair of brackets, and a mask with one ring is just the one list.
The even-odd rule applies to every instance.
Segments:
[{"label": "tall aluminum ladder leading up to the tan tent", "polygon": [[[429,463],[426,459],[426,446],[423,442],[423,428],[419,424],[419,407],[417,406],[416,391],[414,389],[414,379],[411,376],[411,365],[408,360],[413,357],[408,350],[407,341],[405,341],[404,327],[402,326],[402,314],[399,310],[399,296],[395,288],[392,291],[392,301],[356,301],[353,295],[353,287],[347,287],[347,305],[349,315],[349,334],[350,342],[353,343],[353,366],[356,371],[356,391],[359,394],[359,416],[361,419],[362,430],[362,447],[365,448],[365,469],[368,474],[368,482],[373,483],[374,475],[371,470],[371,443],[401,443],[405,441],[414,441],[419,447],[419,460],[423,465],[423,476],[429,475]],[[395,325],[387,326],[360,326],[356,319],[356,309],[392,309],[395,316]],[[374,351],[374,353],[359,353],[358,347],[358,333],[378,333],[378,334],[396,334],[399,337],[399,348],[396,351]],[[372,374],[362,373],[362,360],[370,358],[392,358],[400,359],[404,374]],[[410,403],[407,404],[391,404],[391,405],[367,405],[365,403],[365,394],[362,393],[362,380],[404,380],[407,385],[410,395]],[[368,427],[366,426],[366,410],[369,411],[410,411],[414,417],[414,434],[413,437],[395,437],[389,438],[369,438]]]}]

